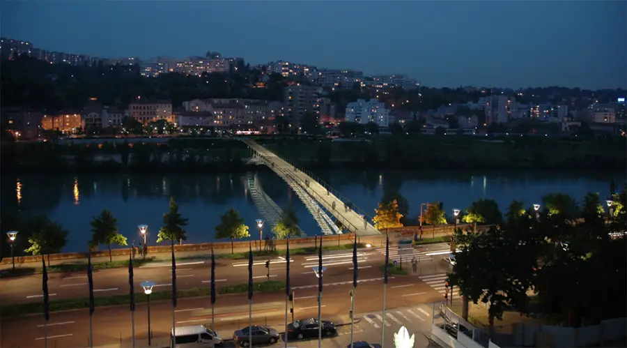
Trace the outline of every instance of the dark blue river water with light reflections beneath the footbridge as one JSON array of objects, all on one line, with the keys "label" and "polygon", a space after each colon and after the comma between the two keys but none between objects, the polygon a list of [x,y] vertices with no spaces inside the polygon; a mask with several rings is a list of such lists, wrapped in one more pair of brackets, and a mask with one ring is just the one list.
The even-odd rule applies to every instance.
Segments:
[{"label": "dark blue river water with light reflections beneath the footbridge", "polygon": [[[255,173],[252,173],[255,175]],[[263,190],[281,208],[292,204],[300,227],[309,235],[320,228],[297,195],[270,171],[256,173]],[[587,192],[609,195],[610,181],[625,181],[621,172],[392,172],[385,170],[318,172],[318,176],[348,197],[369,215],[374,215],[385,190],[398,190],[410,206],[410,218],[420,204],[439,200],[447,213],[466,209],[479,198],[495,199],[502,213],[513,199],[527,206],[539,203],[551,192],[564,192],[579,202]],[[173,196],[184,218],[189,219],[187,241],[214,240],[219,215],[233,207],[258,238],[255,220],[261,218],[247,189],[247,174],[77,174],[2,176],[3,211],[26,215],[47,214],[69,231],[64,251],[81,251],[91,238],[89,222],[102,209],[118,220],[129,243],[140,240],[137,225],[148,224],[149,244],[155,243],[163,225],[162,213]],[[619,186],[620,187],[620,186]],[[264,227],[270,231],[270,226]]]}]

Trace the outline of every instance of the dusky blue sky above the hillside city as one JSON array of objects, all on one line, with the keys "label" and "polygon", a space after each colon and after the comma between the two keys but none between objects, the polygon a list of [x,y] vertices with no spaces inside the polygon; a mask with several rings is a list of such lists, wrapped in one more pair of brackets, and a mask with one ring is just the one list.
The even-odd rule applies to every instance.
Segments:
[{"label": "dusky blue sky above the hillside city", "polygon": [[426,86],[627,87],[627,1],[3,1],[1,36],[102,57],[206,51]]}]

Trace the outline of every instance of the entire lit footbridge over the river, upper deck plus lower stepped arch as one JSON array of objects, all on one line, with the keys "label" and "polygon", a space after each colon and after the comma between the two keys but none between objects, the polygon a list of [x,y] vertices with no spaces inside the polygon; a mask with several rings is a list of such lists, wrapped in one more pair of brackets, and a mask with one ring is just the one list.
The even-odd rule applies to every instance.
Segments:
[{"label": "entire lit footbridge over the river, upper deck plus lower stepped arch", "polygon": [[[305,169],[295,167],[295,165],[292,165],[284,158],[280,158],[251,139],[240,138],[240,140],[251,149],[252,162],[268,166],[288,184],[297,186],[298,191],[307,192],[311,201],[318,204],[323,209],[323,213],[332,215],[343,229],[348,230],[348,232],[354,232],[358,236],[380,234],[378,229],[372,225],[372,218],[368,214],[351,204],[346,197],[336,192],[336,190],[318,179],[314,174],[307,172]],[[304,199],[303,197],[300,198]],[[305,201],[307,200],[309,200],[309,197],[306,197]],[[307,206],[308,202],[305,201],[303,203]],[[314,218],[316,218],[315,215]]]}]

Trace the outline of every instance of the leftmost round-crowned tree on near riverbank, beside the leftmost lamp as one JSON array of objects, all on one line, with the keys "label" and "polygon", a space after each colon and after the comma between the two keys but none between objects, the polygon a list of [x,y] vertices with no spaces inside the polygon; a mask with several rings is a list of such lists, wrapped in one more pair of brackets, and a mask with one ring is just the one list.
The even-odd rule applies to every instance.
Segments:
[{"label": "leftmost round-crowned tree on near riverbank, beside the leftmost lamp", "polygon": [[31,234],[29,237],[31,247],[24,251],[31,255],[42,255],[42,257],[45,254],[48,255],[48,266],[50,266],[50,254],[61,252],[68,243],[68,231],[45,215],[30,219],[26,222],[25,229],[27,234]]}]

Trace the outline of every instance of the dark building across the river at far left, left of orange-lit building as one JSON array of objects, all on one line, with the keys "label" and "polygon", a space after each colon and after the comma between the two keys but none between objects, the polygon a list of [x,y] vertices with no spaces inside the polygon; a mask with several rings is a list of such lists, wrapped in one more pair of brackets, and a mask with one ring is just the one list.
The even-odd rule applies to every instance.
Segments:
[{"label": "dark building across the river at far left, left of orange-lit building", "polygon": [[41,112],[27,111],[21,107],[3,108],[2,130],[8,130],[17,140],[38,139],[41,135]]}]

